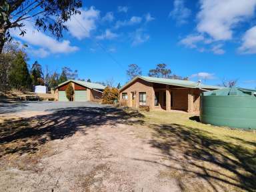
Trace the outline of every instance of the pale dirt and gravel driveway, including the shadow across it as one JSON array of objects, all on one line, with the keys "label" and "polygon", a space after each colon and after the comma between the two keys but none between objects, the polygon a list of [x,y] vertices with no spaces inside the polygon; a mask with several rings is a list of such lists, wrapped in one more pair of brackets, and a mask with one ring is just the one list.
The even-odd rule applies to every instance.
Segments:
[{"label": "pale dirt and gravel driveway, including the shadow across it", "polygon": [[180,191],[139,113],[61,108],[3,124],[0,191]]}]

